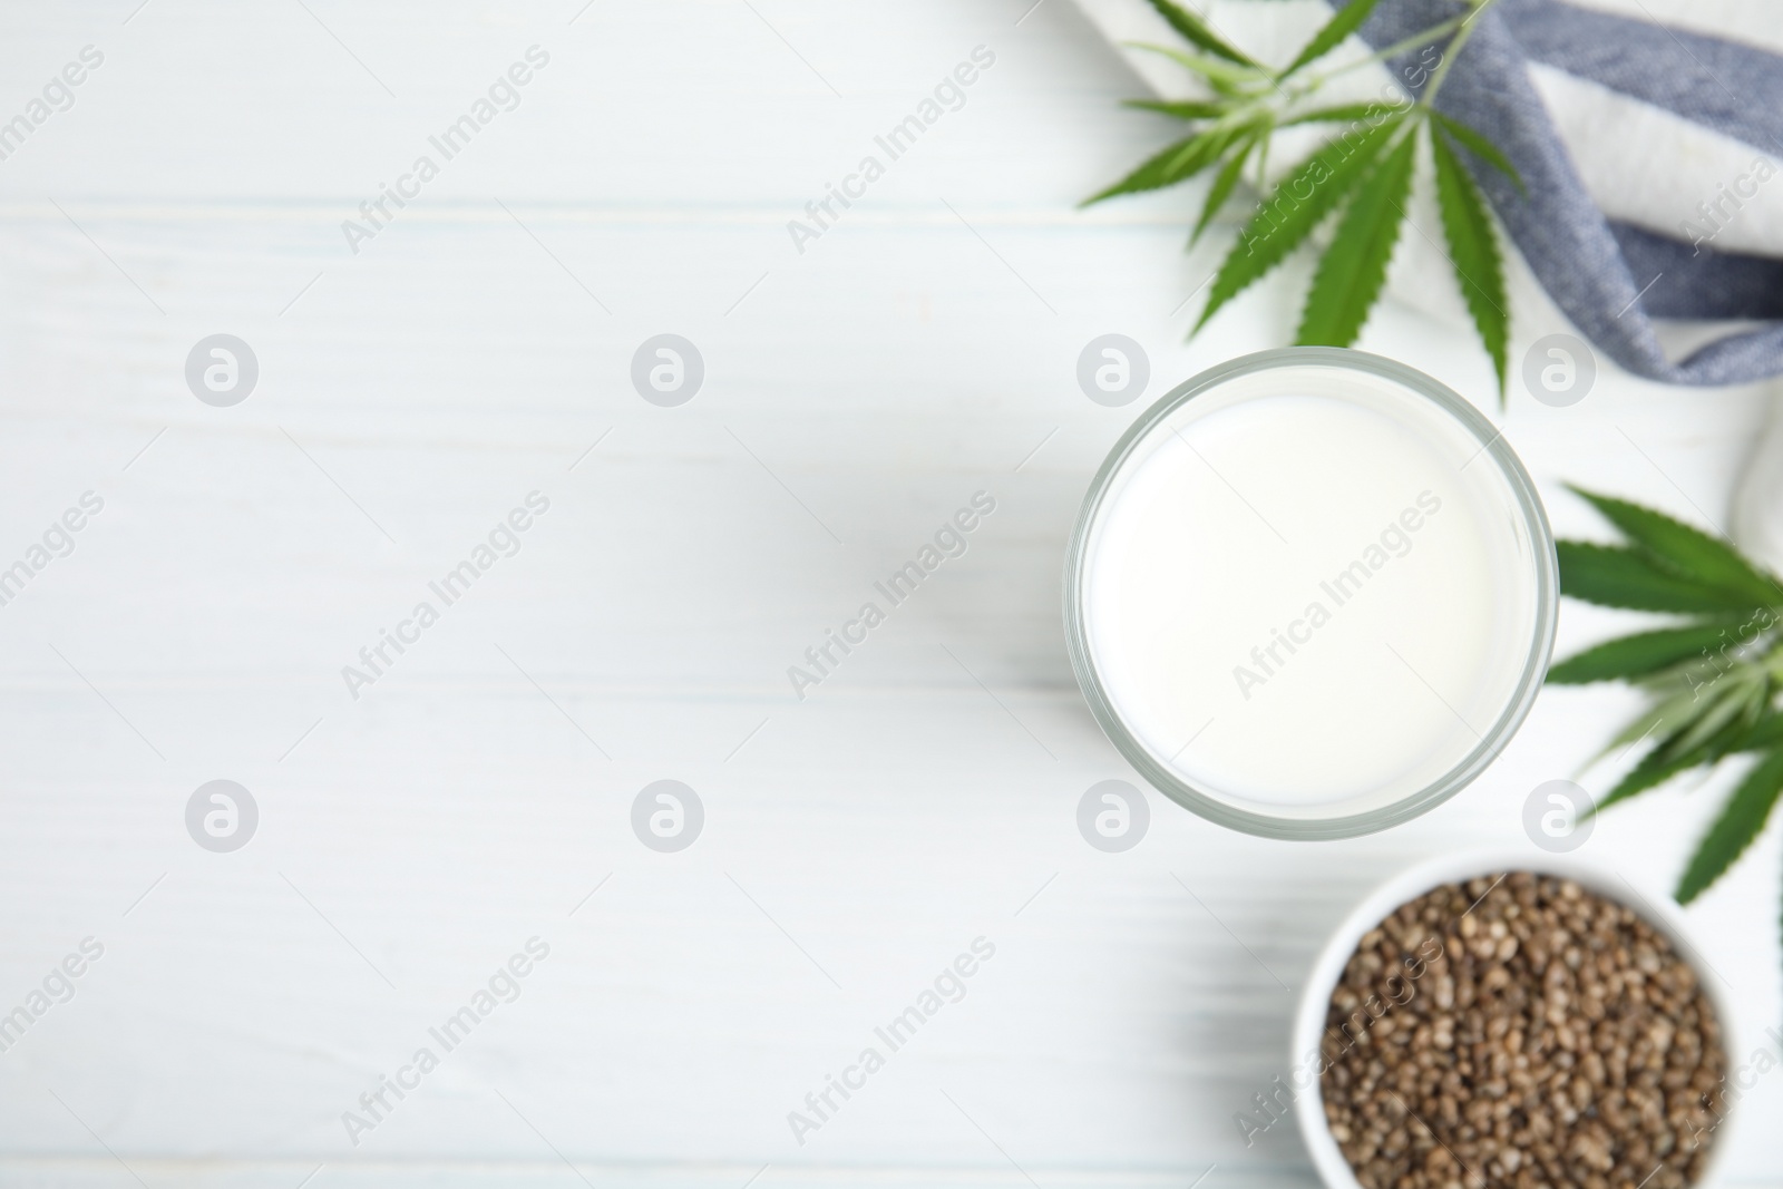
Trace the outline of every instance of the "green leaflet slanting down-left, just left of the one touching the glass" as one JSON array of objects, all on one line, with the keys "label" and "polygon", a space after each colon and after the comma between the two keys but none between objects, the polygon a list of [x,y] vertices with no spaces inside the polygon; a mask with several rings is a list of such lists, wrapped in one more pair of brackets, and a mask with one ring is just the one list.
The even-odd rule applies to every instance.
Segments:
[{"label": "green leaflet slanting down-left, just left of the one touching the glass", "polygon": [[1305,242],[1312,228],[1362,182],[1400,123],[1384,119],[1360,135],[1341,135],[1277,184],[1220,264],[1195,330]]}]

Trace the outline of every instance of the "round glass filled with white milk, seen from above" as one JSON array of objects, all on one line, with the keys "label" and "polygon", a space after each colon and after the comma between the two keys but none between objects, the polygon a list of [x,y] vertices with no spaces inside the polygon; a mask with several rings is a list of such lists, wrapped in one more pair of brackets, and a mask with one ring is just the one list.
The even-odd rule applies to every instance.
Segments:
[{"label": "round glass filled with white milk, seen from above", "polygon": [[1498,430],[1430,376],[1262,351],[1170,392],[1097,472],[1072,667],[1154,786],[1223,825],[1346,838],[1473,781],[1553,649],[1553,537]]}]

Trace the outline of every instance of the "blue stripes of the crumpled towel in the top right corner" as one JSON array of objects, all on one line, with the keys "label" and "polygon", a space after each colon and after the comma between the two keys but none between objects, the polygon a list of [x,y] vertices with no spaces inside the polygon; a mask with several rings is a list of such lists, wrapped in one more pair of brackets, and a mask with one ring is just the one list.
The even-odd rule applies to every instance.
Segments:
[{"label": "blue stripes of the crumpled towel in the top right corner", "polygon": [[[1382,4],[1362,36],[1393,45],[1462,11],[1450,0]],[[1475,176],[1555,305],[1640,376],[1713,385],[1783,373],[1783,324],[1730,333],[1680,362],[1665,358],[1655,317],[1783,319],[1783,260],[1696,248],[1606,219],[1526,70],[1553,66],[1783,159],[1783,59],[1553,0],[1501,0],[1478,20],[1437,107],[1483,132],[1523,175],[1526,193],[1475,162]]]}]

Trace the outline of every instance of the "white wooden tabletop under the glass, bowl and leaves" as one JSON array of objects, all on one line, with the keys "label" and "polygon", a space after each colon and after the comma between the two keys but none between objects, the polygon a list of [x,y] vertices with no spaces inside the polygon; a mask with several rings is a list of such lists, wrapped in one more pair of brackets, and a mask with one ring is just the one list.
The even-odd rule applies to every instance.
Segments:
[{"label": "white wooden tabletop under the glass, bowl and leaves", "polygon": [[[0,1009],[105,945],[0,1055],[0,1184],[1311,1184],[1232,1114],[1325,931],[1417,856],[1521,843],[1630,699],[1546,692],[1385,836],[1154,797],[1138,849],[1091,850],[1077,799],[1130,774],[1070,676],[1061,553],[1143,405],[1084,399],[1077,351],[1139,339],[1157,396],[1278,342],[1305,269],[1182,344],[1220,244],[1182,253],[1193,194],[1073,210],[1164,128],[1061,0],[579,4],[0,14],[4,116],[105,53],[0,162],[0,558],[105,499],[0,608]],[[521,107],[349,255],[339,223],[535,43]],[[797,253],[785,223],[977,45],[965,107]],[[1517,312],[1519,349],[1564,328]],[[260,360],[235,408],[184,385],[216,332]],[[660,332],[706,358],[683,408],[628,381]],[[1453,310],[1362,346],[1491,408]],[[1722,515],[1762,412],[1605,376],[1514,394],[1507,435],[1592,533],[1562,481]],[[351,701],[341,667],[535,488],[524,549]],[[797,701],[786,667],[981,488],[970,553]],[[1615,626],[1569,606],[1562,649]],[[182,822],[218,777],[262,813],[228,856]],[[681,854],[629,831],[661,777],[706,804]],[[1664,890],[1712,791],[1587,852]],[[1783,1014],[1778,879],[1772,829],[1690,911],[1746,1048]],[[341,1112],[535,934],[524,995],[355,1148]],[[979,936],[966,998],[799,1146],[786,1112]],[[1735,1180],[1783,1180],[1763,1130]]]}]

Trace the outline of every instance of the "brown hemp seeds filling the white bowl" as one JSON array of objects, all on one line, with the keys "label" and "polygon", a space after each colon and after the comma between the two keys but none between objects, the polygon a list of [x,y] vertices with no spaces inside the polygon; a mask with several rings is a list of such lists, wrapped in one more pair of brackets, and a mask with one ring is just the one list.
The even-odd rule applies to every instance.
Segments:
[{"label": "brown hemp seeds filling the white bowl", "polygon": [[1683,1189],[1726,1057],[1696,970],[1628,907],[1530,872],[1444,884],[1357,945],[1321,1041],[1364,1189]]}]

